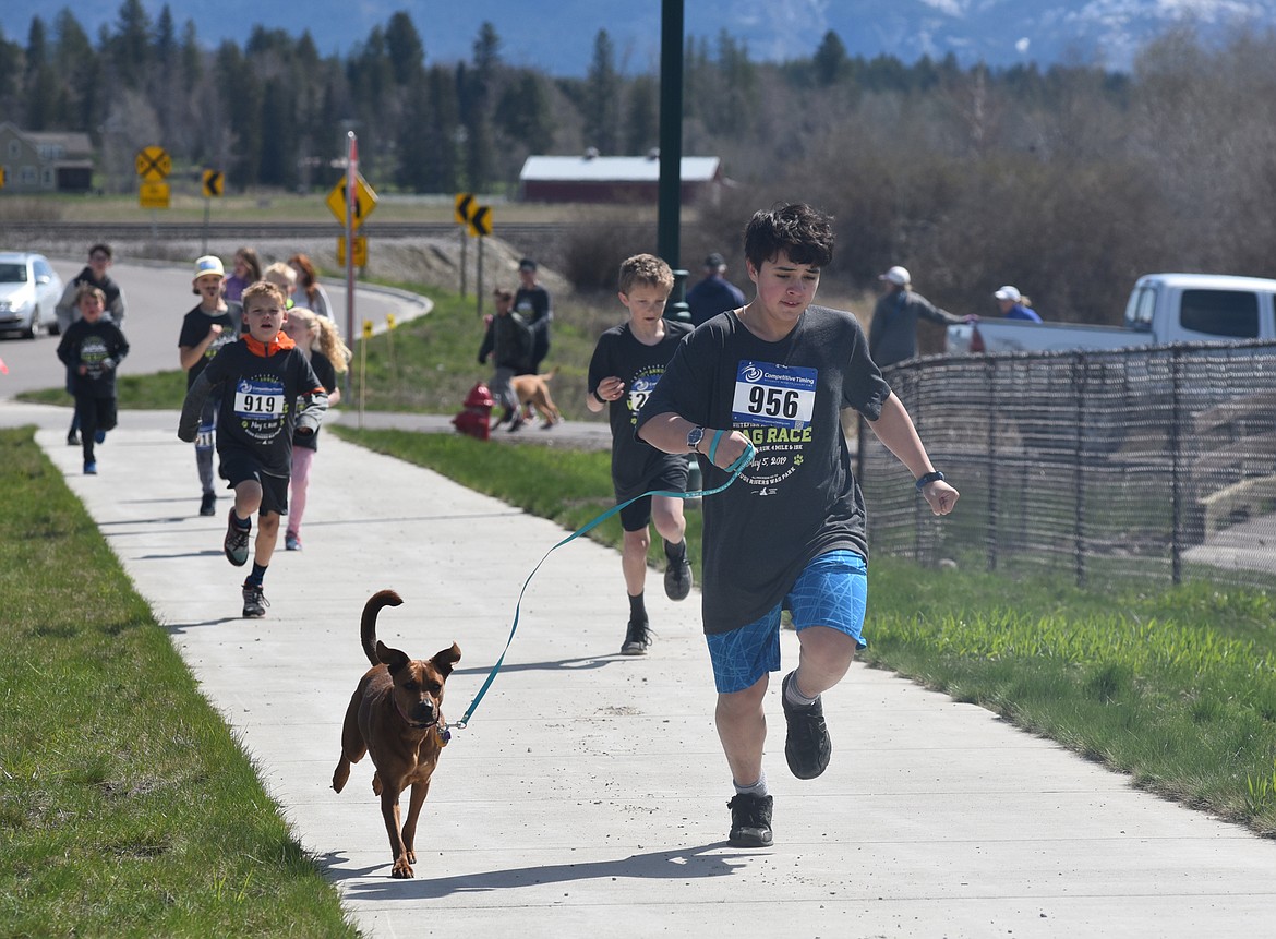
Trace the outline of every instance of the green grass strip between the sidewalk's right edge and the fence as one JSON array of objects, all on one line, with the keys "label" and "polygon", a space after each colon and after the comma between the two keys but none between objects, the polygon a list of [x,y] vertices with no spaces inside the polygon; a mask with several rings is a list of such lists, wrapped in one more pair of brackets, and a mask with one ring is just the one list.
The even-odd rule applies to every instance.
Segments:
[{"label": "green grass strip between the sidewalk's right edge and the fence", "polygon": [[[607,454],[343,426],[334,431],[575,529],[611,503]],[[570,494],[570,495],[568,495]],[[615,518],[591,532],[619,545]],[[701,515],[688,513],[698,561]],[[651,560],[661,563],[653,546]],[[1276,602],[1194,582],[1085,592],[870,565],[869,663],[990,708],[1136,785],[1276,836]]]}]

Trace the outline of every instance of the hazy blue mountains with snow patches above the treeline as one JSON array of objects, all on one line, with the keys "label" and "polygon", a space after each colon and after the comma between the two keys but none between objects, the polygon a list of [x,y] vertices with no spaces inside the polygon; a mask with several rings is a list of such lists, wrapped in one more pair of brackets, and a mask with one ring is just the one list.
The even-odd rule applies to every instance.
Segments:
[{"label": "hazy blue mountains with snow patches above the treeline", "polygon": [[[152,19],[163,8],[143,0]],[[77,19],[96,40],[102,26],[119,22],[121,0],[77,0]],[[179,34],[188,19],[209,47],[248,38],[253,26],[297,33],[309,29],[324,55],[346,55],[406,10],[425,42],[427,63],[471,57],[478,27],[491,22],[504,60],[554,75],[583,75],[593,42],[606,29],[625,73],[657,70],[661,3],[657,0],[168,0]],[[26,43],[38,14],[52,28],[56,10],[34,0],[0,4],[0,27]],[[1005,66],[1067,61],[1128,70],[1134,54],[1175,24],[1193,24],[1210,42],[1239,29],[1276,27],[1272,0],[685,0],[685,33],[704,40],[709,52],[721,31],[748,46],[754,60],[810,56],[835,31],[851,55],[892,55],[905,63],[923,55],[954,54],[962,65]]]}]

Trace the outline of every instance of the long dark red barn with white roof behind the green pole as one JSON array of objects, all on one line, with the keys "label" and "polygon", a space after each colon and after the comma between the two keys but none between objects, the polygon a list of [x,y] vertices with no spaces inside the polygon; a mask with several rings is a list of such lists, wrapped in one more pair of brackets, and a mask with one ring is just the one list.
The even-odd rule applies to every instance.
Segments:
[{"label": "long dark red barn with white roof behind the green pole", "polygon": [[[717,157],[683,157],[681,200],[716,199],[723,185]],[[604,157],[593,148],[581,156],[528,157],[518,175],[523,202],[655,203],[660,194],[660,154]]]}]

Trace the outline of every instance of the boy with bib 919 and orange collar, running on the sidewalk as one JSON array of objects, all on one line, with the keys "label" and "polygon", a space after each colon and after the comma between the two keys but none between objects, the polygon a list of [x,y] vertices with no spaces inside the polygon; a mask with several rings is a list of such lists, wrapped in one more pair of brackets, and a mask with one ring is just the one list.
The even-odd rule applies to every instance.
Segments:
[{"label": "boy with bib 919 and orange collar, running on the sidewalk", "polygon": [[[177,436],[190,443],[204,399],[219,389],[219,473],[235,490],[222,549],[235,566],[248,563],[253,513],[258,513],[253,573],[244,580],[244,616],[265,615],[262,583],[274,554],[279,517],[288,514],[292,434],[313,434],[328,410],[328,394],[310,362],[282,332],[286,297],[259,281],[244,291],[248,332],[221,348],[186,392]],[[302,401],[299,403],[299,398]]]}]

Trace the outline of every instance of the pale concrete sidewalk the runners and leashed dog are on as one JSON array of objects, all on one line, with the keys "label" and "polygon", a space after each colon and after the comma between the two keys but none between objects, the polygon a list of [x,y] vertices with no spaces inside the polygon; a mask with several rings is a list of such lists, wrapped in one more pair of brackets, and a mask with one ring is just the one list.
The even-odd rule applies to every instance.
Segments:
[{"label": "pale concrete sidewalk the runners and leashed dog are on", "polygon": [[379,633],[410,654],[459,643],[456,721],[565,532],[328,434],[305,551],[276,554],[272,606],[246,621],[221,551],[230,501],[198,517],[193,448],[166,417],[122,416],[96,477],[64,421],[37,439],[367,935],[1235,939],[1276,922],[1276,842],[863,666],[826,695],[833,762],[812,782],[785,767],[772,684],[776,843],[729,847],[697,595],[669,602],[649,578],[656,643],[621,657],[619,558],[583,538],[531,582],[504,669],[443,754],[417,878],[392,880],[370,763],[330,788],[362,605],[402,595]]}]

